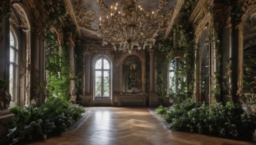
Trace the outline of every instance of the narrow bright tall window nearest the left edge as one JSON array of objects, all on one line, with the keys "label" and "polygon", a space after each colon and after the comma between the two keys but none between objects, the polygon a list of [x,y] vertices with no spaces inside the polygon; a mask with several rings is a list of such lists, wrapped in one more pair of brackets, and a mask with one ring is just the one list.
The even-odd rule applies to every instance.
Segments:
[{"label": "narrow bright tall window nearest the left edge", "polygon": [[18,41],[17,36],[10,30],[10,79],[9,91],[12,101],[17,102],[17,80],[18,80]]}]

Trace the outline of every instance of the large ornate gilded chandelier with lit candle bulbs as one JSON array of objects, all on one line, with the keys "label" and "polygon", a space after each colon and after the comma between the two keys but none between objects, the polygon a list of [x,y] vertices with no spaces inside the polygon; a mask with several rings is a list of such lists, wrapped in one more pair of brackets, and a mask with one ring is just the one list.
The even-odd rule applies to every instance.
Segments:
[{"label": "large ornate gilded chandelier with lit candle bulbs", "polygon": [[108,8],[104,0],[99,4],[106,10],[105,16],[100,17],[99,33],[103,37],[102,45],[113,45],[116,50],[131,52],[133,48],[152,48],[156,36],[163,26],[163,16],[159,11],[168,3],[162,0],[157,11],[143,10],[138,0],[125,0],[124,5],[118,10],[118,3]]}]

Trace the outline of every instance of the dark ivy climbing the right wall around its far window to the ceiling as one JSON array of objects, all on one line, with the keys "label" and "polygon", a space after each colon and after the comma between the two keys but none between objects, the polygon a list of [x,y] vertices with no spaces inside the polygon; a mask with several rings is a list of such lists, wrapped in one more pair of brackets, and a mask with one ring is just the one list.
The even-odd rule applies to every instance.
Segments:
[{"label": "dark ivy climbing the right wall around its far window to the ceiling", "polygon": [[[161,64],[163,62],[175,62],[175,90],[170,90],[170,97],[179,97],[183,99],[191,97],[193,93],[193,72],[195,70],[195,50],[197,45],[193,39],[193,27],[188,24],[189,14],[193,8],[193,1],[187,0],[184,6],[180,10],[179,22],[173,26],[172,31],[168,39],[162,41],[159,45],[159,49],[156,51],[157,57],[157,92],[163,94],[167,88],[166,80],[163,78],[163,72],[161,72]],[[179,86],[177,86],[179,85]],[[176,95],[173,95],[173,92]],[[173,96],[172,96],[173,95]],[[185,96],[185,97],[184,97]],[[180,99],[175,99],[179,100]]]}]

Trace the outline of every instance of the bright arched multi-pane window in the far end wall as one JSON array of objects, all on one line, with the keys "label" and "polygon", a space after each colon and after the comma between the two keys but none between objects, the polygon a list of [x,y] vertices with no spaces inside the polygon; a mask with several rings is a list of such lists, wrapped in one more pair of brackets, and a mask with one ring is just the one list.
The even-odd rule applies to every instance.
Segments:
[{"label": "bright arched multi-pane window in the far end wall", "polygon": [[110,98],[110,72],[109,60],[102,56],[95,62],[95,99]]}]

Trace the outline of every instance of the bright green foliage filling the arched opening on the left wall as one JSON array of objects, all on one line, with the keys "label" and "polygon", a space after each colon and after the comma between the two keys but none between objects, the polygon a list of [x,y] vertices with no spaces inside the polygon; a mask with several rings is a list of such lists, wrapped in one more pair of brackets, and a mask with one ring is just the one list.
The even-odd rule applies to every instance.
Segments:
[{"label": "bright green foliage filling the arched opening on the left wall", "polygon": [[45,69],[47,72],[47,90],[49,97],[69,99],[70,64],[68,51],[57,42],[56,35],[47,31],[45,36]]}]

